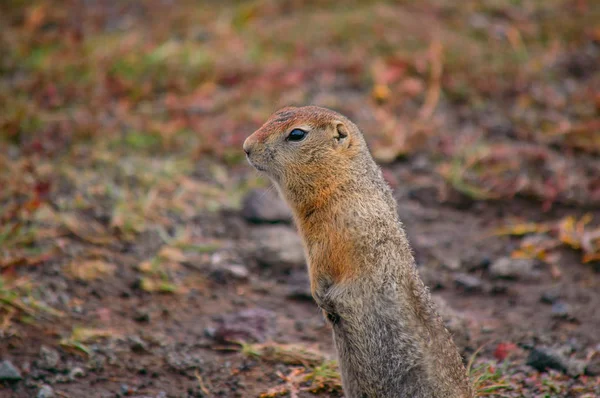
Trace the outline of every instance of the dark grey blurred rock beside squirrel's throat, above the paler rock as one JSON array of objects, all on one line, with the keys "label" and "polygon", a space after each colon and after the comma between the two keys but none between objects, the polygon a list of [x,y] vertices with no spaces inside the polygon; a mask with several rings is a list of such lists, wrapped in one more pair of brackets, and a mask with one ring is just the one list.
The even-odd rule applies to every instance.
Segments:
[{"label": "dark grey blurred rock beside squirrel's throat, above the paler rock", "polygon": [[289,223],[292,213],[272,189],[254,189],[242,203],[242,217],[252,223]]}]

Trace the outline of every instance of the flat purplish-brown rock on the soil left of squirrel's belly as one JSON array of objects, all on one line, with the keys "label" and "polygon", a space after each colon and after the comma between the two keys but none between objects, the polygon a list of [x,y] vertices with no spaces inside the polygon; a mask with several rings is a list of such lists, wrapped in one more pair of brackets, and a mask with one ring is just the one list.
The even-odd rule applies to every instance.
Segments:
[{"label": "flat purplish-brown rock on the soil left of squirrel's belly", "polygon": [[252,308],[224,315],[215,332],[215,339],[221,342],[264,342],[275,334],[275,318],[273,311],[264,308]]}]

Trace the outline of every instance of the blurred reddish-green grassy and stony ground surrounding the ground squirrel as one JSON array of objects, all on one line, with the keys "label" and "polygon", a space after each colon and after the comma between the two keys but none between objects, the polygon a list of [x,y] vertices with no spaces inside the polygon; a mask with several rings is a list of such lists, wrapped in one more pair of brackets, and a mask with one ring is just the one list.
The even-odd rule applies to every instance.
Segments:
[{"label": "blurred reddish-green grassy and stony ground surrounding the ground squirrel", "polygon": [[0,395],[343,396],[241,151],[308,104],[364,132],[480,393],[598,396],[592,0],[3,1]]}]

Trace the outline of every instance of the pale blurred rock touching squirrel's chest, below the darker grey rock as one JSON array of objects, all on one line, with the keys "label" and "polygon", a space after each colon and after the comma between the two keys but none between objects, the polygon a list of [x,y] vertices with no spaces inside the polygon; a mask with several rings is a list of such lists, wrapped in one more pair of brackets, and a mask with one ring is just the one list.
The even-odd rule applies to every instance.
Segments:
[{"label": "pale blurred rock touching squirrel's chest, below the darker grey rock", "polygon": [[263,265],[278,269],[305,266],[304,247],[298,234],[289,227],[268,226],[253,230],[256,259]]}]

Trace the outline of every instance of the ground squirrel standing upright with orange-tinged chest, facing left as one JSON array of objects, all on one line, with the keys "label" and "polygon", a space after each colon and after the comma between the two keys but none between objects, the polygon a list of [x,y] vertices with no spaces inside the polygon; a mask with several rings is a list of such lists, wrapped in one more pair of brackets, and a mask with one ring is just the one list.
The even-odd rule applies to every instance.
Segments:
[{"label": "ground squirrel standing upright with orange-tinged chest, facing left", "polygon": [[326,108],[287,107],[246,139],[244,151],[292,209],[346,396],[472,397],[358,127]]}]

